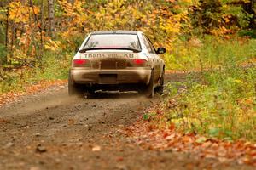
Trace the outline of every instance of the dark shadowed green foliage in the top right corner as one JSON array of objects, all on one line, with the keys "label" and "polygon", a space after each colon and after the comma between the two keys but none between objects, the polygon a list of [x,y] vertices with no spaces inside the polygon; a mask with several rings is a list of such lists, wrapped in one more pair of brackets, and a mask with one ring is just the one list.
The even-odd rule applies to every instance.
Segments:
[{"label": "dark shadowed green foliage in the top right corner", "polygon": [[195,28],[192,32],[219,36],[243,28],[253,29],[256,26],[255,4],[250,0],[199,0],[190,8],[189,16]]}]

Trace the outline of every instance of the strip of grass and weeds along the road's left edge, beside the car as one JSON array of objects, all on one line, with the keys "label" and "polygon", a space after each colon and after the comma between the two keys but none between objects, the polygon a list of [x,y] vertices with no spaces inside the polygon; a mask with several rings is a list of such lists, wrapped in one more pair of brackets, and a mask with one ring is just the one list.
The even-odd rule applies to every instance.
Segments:
[{"label": "strip of grass and weeds along the road's left edge, beside the car", "polygon": [[2,71],[0,94],[24,91],[26,85],[40,81],[65,80],[73,54],[47,51],[40,64]]}]

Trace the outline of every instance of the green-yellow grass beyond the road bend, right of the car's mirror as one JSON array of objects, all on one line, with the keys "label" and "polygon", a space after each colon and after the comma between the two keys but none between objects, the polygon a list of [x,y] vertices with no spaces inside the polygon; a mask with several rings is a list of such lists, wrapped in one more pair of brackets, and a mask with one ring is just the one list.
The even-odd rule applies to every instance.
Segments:
[{"label": "green-yellow grass beyond the road bend, right of the car's mirror", "polygon": [[256,56],[256,41],[247,37],[204,36],[189,41],[177,40],[172,54],[166,54],[166,68],[191,71],[222,69],[242,65]]}]

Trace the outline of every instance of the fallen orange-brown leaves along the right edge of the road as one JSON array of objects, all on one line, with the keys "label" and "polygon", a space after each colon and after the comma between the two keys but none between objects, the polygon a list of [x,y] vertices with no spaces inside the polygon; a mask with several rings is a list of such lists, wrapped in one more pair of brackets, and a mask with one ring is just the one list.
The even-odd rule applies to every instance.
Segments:
[{"label": "fallen orange-brown leaves along the right edge of the road", "polygon": [[[148,113],[148,111],[145,111]],[[160,114],[160,111],[158,111]],[[142,116],[123,133],[145,150],[172,150],[192,153],[200,158],[219,162],[247,164],[256,167],[256,144],[238,139],[234,142],[207,138],[195,133],[177,132],[175,125],[159,127],[157,122]]]}]

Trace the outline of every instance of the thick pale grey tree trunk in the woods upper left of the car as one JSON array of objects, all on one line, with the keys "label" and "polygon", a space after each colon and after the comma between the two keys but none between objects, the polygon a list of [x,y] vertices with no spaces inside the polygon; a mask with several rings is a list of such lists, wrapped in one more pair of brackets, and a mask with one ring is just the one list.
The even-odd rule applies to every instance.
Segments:
[{"label": "thick pale grey tree trunk in the woods upper left of the car", "polygon": [[49,36],[55,37],[55,0],[48,0]]}]

